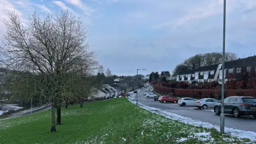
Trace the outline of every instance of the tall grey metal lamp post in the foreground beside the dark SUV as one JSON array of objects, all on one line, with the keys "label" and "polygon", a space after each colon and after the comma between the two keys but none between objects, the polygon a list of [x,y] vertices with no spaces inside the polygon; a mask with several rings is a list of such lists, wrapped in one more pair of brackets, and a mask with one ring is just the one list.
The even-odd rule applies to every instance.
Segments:
[{"label": "tall grey metal lamp post in the foreground beside the dark SUV", "polygon": [[220,132],[225,132],[224,115],[224,85],[225,85],[225,33],[226,33],[226,0],[223,0],[223,49],[222,49],[222,84],[221,84],[221,114],[220,114]]}]

